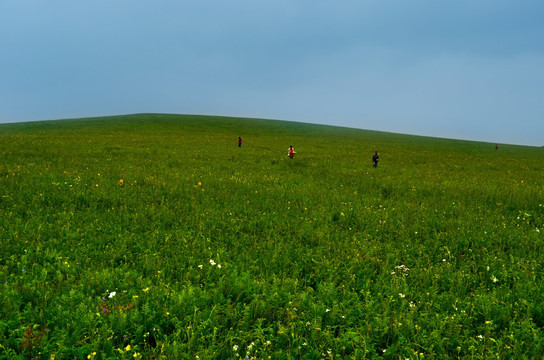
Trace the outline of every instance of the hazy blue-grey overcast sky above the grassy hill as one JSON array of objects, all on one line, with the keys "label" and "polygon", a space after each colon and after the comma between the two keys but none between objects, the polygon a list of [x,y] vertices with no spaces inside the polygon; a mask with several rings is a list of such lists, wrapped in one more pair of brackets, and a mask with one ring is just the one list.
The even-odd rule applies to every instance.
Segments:
[{"label": "hazy blue-grey overcast sky above the grassy hill", "polygon": [[0,122],[257,117],[544,145],[542,0],[0,0]]}]

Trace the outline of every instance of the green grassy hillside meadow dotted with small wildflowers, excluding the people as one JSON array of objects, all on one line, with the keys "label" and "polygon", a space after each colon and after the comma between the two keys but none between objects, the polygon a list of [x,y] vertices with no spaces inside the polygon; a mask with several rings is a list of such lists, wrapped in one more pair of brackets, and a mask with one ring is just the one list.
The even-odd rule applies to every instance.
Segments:
[{"label": "green grassy hillside meadow dotted with small wildflowers, excluding the people", "polygon": [[543,166],[274,120],[0,125],[0,358],[543,358]]}]

